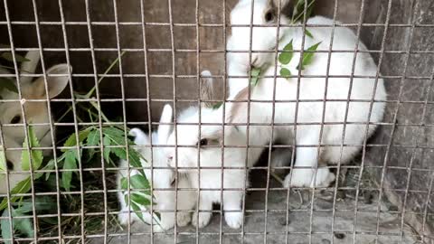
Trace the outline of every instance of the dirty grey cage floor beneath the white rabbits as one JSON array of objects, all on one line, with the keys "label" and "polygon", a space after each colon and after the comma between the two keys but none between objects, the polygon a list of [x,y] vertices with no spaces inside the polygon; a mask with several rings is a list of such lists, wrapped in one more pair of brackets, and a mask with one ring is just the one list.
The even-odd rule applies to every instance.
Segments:
[{"label": "dirty grey cage floor beneath the white rabbits", "polygon": [[[253,188],[265,186],[266,174],[250,174]],[[252,181],[255,179],[255,181]],[[270,188],[279,187],[274,179]],[[220,213],[212,216],[211,223],[200,230],[192,225],[165,233],[154,233],[154,243],[336,243],[336,244],[394,244],[419,243],[417,236],[404,224],[401,228],[401,214],[377,199],[357,201],[355,217],[354,192],[339,193],[334,204],[334,191],[290,192],[287,229],[288,191],[269,191],[268,216],[265,216],[266,192],[252,191],[246,199],[244,231],[230,229]],[[313,208],[312,208],[313,203]],[[335,205],[335,206],[334,206]],[[377,209],[380,209],[377,213]],[[220,210],[216,206],[214,210]],[[335,210],[335,211],[334,211]],[[335,218],[333,216],[335,215]],[[356,219],[356,221],[355,221]],[[221,224],[222,222],[222,224]],[[333,226],[333,227],[332,227]],[[377,231],[378,226],[378,231]],[[355,228],[354,228],[355,227]],[[332,231],[333,230],[333,231]],[[109,237],[109,243],[152,243],[150,228],[143,223],[131,226],[128,238],[127,230],[118,231],[116,237]],[[267,233],[265,236],[264,233]],[[113,231],[109,231],[113,233]],[[312,234],[309,234],[312,233]],[[377,234],[378,233],[378,234]],[[401,239],[402,233],[402,239]],[[92,239],[91,243],[102,243],[103,239]]]}]

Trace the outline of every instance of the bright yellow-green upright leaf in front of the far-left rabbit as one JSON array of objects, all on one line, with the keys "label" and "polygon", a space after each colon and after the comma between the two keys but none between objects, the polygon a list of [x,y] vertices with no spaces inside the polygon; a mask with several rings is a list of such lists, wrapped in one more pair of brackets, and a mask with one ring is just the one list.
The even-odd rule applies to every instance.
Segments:
[{"label": "bright yellow-green upright leaf in front of the far-left rabbit", "polygon": [[[36,134],[34,134],[33,127],[29,126],[28,132],[29,132],[29,141],[30,141],[30,148],[31,148],[30,155],[32,155],[33,170],[38,170],[42,164],[42,159],[43,159],[42,150],[33,149],[33,147],[40,146],[38,138],[36,137]],[[23,148],[27,148],[27,140],[24,140]],[[30,170],[30,159],[29,159],[28,151],[24,150],[21,153],[21,160],[22,160],[21,162],[22,169],[24,171]]]}]

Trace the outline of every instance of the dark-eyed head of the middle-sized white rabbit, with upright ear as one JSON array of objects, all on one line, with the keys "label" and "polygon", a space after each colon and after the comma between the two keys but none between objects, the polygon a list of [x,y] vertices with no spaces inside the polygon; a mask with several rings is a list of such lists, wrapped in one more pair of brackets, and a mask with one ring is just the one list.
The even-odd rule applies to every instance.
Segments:
[{"label": "dark-eyed head of the middle-sized white rabbit, with upright ear", "polygon": [[[204,72],[203,72],[204,73]],[[212,79],[202,79],[201,99],[212,99]],[[231,117],[231,106],[225,108],[226,117]],[[223,109],[212,108],[208,104],[202,107],[191,107],[181,112],[177,118],[174,131],[168,137],[167,145],[177,146],[166,149],[167,160],[171,167],[179,172],[188,172],[200,166],[215,167],[222,165],[222,144],[242,145],[242,137],[237,133],[238,128],[224,126]],[[176,136],[175,136],[176,132]],[[224,135],[224,136],[223,136]],[[226,149],[225,149],[225,152]],[[200,157],[198,157],[200,155]],[[225,164],[226,164],[226,160]]]}]

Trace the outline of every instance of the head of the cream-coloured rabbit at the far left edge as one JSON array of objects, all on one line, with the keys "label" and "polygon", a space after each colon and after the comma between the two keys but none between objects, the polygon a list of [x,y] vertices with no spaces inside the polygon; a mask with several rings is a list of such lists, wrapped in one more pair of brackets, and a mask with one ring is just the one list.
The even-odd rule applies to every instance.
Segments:
[{"label": "head of the cream-coloured rabbit at the far left edge", "polygon": [[[52,99],[66,88],[69,80],[69,70],[71,68],[67,64],[58,64],[47,70],[48,94],[46,93],[47,90],[45,89],[43,77],[33,82],[28,80],[24,80],[24,83],[20,82],[23,99],[21,101],[5,101],[0,104],[0,121],[4,125],[3,133],[5,136],[8,136],[18,144],[23,143],[25,136],[22,103],[28,123],[49,123],[50,117],[46,102],[47,95]],[[14,92],[8,92],[4,95],[3,99],[19,99],[19,97]],[[43,101],[27,101],[27,99],[43,99]],[[52,145],[49,125],[35,125],[33,126],[33,130],[42,146]]]}]

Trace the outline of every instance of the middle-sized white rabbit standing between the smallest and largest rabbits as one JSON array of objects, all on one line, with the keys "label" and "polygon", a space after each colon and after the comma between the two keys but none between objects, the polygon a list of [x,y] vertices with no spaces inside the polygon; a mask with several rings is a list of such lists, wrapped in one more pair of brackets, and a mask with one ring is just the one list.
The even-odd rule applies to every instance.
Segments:
[{"label": "middle-sized white rabbit standing between the smallest and largest rabbits", "polygon": [[[204,71],[203,74],[208,72]],[[202,99],[211,99],[212,79],[206,79],[202,87]],[[199,109],[202,110],[201,119]],[[231,228],[240,228],[243,217],[241,212],[243,189],[249,186],[249,182],[247,171],[244,169],[246,149],[234,148],[233,145],[245,145],[245,134],[238,127],[225,126],[223,137],[222,125],[209,125],[209,123],[222,124],[222,108],[212,109],[207,106],[187,108],[181,112],[176,121],[179,125],[176,125],[174,132],[169,136],[168,145],[175,145],[176,142],[179,147],[177,147],[177,154],[174,148],[167,148],[166,156],[170,165],[178,172],[188,174],[192,187],[199,190],[199,203],[196,212],[193,213],[193,225],[198,227],[207,225],[212,217],[212,203],[221,203],[226,223]],[[197,125],[199,121],[203,123],[201,127]],[[231,145],[232,147],[228,147]],[[260,148],[249,150],[250,153],[258,155],[261,152]],[[198,164],[198,155],[200,155],[200,164]],[[197,169],[199,165],[200,170]],[[223,166],[235,168],[222,169]]]}]

